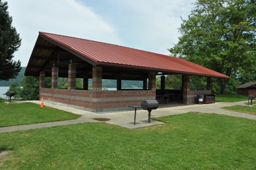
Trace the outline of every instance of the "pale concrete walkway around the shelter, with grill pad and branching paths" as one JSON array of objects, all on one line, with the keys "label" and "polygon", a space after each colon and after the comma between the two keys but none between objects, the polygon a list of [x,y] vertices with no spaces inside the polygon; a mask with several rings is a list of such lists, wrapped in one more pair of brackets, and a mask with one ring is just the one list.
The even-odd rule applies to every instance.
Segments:
[{"label": "pale concrete walkway around the shelter, with grill pad and branching paths", "polygon": [[[41,104],[41,101],[15,101],[12,104],[22,103],[22,102],[36,103],[38,104],[38,107]],[[187,112],[203,112],[203,113],[216,113],[220,115],[228,115],[228,116],[235,116],[239,118],[256,120],[256,115],[249,115],[246,113],[239,113],[239,112],[230,112],[224,109],[220,109],[221,107],[233,106],[237,104],[246,105],[244,103],[246,103],[246,101],[239,101],[235,103],[220,102],[220,103],[214,103],[214,104],[192,104],[192,105],[185,105],[180,103],[159,104],[158,109],[152,110],[151,118],[169,116],[169,115],[178,115],[178,114],[183,114]],[[70,124],[84,123],[84,122],[106,122],[112,125],[122,126],[124,128],[129,128],[129,129],[143,128],[147,126],[164,124],[164,122],[158,122],[155,120],[151,120],[151,122],[148,123],[147,110],[137,109],[136,125],[134,125],[134,110],[131,110],[131,108],[129,107],[127,107],[127,109],[130,109],[130,110],[93,113],[93,112],[87,112],[85,110],[74,109],[72,107],[60,106],[58,104],[52,104],[52,103],[46,103],[46,102],[44,102],[44,106],[53,107],[55,109],[75,113],[75,114],[81,115],[81,117],[75,120],[64,120],[59,122],[9,126],[9,127],[0,128],[0,133],[12,132],[12,131],[18,131],[18,130],[27,130],[27,129],[47,128],[47,127],[60,126],[60,125],[70,125]],[[103,121],[95,120],[97,118],[110,119],[110,120],[103,120]]]}]

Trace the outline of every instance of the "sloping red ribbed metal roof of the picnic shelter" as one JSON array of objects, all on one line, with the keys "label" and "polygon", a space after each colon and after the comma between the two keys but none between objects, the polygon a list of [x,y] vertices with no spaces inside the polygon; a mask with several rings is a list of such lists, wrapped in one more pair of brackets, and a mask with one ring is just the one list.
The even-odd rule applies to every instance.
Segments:
[{"label": "sloping red ribbed metal roof of the picnic shelter", "polygon": [[98,65],[140,67],[158,70],[159,72],[162,70],[162,72],[230,78],[229,76],[199,66],[198,64],[169,55],[156,54],[134,48],[56,35],[53,33],[39,32],[39,34],[70,50],[78,52]]}]

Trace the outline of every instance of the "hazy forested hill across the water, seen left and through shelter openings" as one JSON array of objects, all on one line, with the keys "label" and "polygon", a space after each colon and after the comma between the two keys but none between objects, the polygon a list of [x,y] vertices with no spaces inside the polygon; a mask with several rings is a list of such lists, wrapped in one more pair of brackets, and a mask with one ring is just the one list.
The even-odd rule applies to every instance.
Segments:
[{"label": "hazy forested hill across the water, seen left and through shelter openings", "polygon": [[[20,73],[16,79],[10,79],[9,81],[0,81],[0,86],[10,86],[13,81],[17,81],[21,86],[21,79],[24,78],[24,72],[26,67],[21,67]],[[88,84],[92,84],[92,79],[89,79]],[[105,88],[116,88],[116,80],[103,79],[102,86]],[[143,88],[142,81],[122,81],[122,88]]]}]

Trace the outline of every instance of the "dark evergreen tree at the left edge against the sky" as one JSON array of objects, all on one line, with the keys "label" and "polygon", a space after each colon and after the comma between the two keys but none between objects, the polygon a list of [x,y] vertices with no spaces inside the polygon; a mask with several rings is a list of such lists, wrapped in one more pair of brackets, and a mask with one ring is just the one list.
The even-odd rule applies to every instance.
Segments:
[{"label": "dark evergreen tree at the left edge against the sky", "polygon": [[16,78],[21,70],[20,60],[13,61],[14,52],[21,45],[20,35],[11,26],[13,18],[7,11],[7,2],[0,0],[0,80]]}]

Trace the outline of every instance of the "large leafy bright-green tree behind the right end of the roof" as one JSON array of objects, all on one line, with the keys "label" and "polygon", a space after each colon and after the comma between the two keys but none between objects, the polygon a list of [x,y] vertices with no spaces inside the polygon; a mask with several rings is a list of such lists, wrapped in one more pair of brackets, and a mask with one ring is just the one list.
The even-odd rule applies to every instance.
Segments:
[{"label": "large leafy bright-green tree behind the right end of the roof", "polygon": [[[182,22],[179,41],[169,49],[172,55],[227,76],[255,70],[255,0],[198,0]],[[221,94],[228,83],[218,79]]]}]

